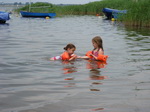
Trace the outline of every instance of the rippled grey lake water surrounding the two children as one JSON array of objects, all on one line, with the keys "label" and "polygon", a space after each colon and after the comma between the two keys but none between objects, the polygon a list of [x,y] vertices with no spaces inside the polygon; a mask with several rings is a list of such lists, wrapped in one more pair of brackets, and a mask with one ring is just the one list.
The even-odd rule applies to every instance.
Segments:
[{"label": "rippled grey lake water surrounding the two children", "polygon": [[[107,64],[49,61],[68,43],[85,55],[97,35]],[[150,29],[96,16],[12,14],[0,25],[0,112],[149,112],[149,85]]]}]

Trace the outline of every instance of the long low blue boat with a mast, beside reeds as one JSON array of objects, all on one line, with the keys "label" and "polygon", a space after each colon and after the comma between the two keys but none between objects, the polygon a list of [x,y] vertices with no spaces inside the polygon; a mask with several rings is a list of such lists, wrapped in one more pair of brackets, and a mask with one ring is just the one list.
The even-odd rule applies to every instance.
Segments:
[{"label": "long low blue boat with a mast, beside reeds", "polygon": [[37,13],[37,12],[25,12],[25,11],[20,11],[22,17],[40,17],[40,18],[45,18],[45,17],[50,17],[53,18],[56,16],[56,13]]}]

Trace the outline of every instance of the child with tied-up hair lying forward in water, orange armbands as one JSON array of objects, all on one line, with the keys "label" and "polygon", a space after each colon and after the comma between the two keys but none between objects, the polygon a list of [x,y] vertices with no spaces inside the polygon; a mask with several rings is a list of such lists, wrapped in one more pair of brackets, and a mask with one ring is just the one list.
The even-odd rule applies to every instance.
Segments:
[{"label": "child with tied-up hair lying forward in water, orange armbands", "polygon": [[76,46],[73,44],[68,44],[64,47],[64,52],[60,56],[55,56],[50,58],[50,60],[63,60],[63,61],[72,61],[77,58],[77,55],[74,54]]}]

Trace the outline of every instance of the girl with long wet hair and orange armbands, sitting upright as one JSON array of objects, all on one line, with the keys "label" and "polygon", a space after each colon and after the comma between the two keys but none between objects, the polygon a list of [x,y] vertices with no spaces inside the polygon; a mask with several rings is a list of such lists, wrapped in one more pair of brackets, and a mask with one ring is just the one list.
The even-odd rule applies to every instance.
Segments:
[{"label": "girl with long wet hair and orange armbands, sitting upright", "polygon": [[94,37],[92,39],[92,44],[93,44],[94,49],[92,51],[88,51],[85,56],[82,56],[80,58],[106,62],[108,56],[104,55],[103,41],[101,37],[100,36]]}]

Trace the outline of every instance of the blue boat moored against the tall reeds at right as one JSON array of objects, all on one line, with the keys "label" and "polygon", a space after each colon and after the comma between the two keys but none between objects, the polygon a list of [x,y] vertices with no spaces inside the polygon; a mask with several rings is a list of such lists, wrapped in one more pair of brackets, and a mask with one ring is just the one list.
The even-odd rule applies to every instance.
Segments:
[{"label": "blue boat moored against the tall reeds at right", "polygon": [[114,18],[115,20],[118,19],[121,15],[126,14],[127,10],[117,10],[117,9],[110,9],[110,8],[103,8],[102,12],[107,17],[107,20],[111,20]]}]

